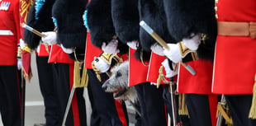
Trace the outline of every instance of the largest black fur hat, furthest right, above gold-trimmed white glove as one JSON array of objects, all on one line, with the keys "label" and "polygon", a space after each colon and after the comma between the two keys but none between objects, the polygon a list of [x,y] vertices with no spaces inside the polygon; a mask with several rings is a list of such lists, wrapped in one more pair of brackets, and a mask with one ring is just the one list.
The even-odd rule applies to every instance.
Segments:
[{"label": "largest black fur hat, furthest right, above gold-trimmed white glove", "polygon": [[216,43],[216,18],[214,0],[164,0],[168,19],[168,31],[176,41],[191,37],[191,34],[205,34],[197,55],[213,59]]}]

